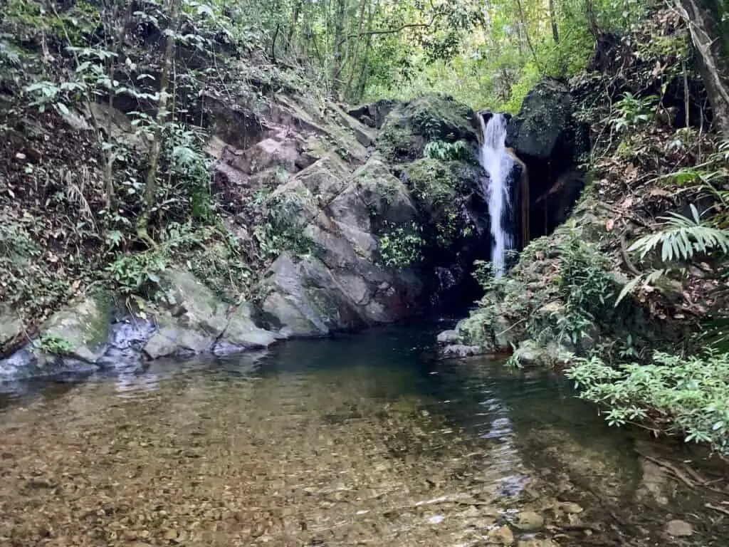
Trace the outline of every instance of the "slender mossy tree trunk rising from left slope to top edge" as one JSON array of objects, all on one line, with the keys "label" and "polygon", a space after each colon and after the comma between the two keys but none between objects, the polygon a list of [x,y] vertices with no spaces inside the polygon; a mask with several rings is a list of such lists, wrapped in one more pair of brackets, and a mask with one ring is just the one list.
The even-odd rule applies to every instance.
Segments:
[{"label": "slender mossy tree trunk rising from left slope to top edge", "polygon": [[172,61],[175,55],[176,34],[179,27],[180,8],[182,0],[170,0],[168,4],[168,27],[165,34],[167,36],[165,42],[165,59],[162,69],[162,81],[160,82],[160,100],[157,104],[157,119],[155,120],[155,133],[152,140],[152,146],[149,148],[149,168],[147,169],[147,178],[144,182],[144,209],[139,216],[137,222],[137,235],[147,244],[154,246],[154,241],[149,237],[147,226],[149,225],[149,217],[152,216],[152,208],[155,206],[157,198],[157,169],[160,163],[160,154],[162,152],[163,128],[167,120],[167,90],[170,87],[170,74],[172,71]]}]

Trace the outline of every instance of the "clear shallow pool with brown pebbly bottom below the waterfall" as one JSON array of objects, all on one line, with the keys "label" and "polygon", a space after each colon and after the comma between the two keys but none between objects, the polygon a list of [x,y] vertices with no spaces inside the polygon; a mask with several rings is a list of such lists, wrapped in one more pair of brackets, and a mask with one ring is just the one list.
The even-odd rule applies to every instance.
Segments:
[{"label": "clear shallow pool with brown pebbly bottom below the waterfall", "polygon": [[0,545],[729,544],[665,444],[555,376],[440,361],[432,340],[380,329],[6,386]]}]

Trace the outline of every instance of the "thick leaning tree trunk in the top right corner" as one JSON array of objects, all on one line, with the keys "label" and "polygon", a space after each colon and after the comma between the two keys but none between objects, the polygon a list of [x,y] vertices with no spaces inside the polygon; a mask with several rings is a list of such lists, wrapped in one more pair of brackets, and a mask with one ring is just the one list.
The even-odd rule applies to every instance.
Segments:
[{"label": "thick leaning tree trunk in the top right corner", "polygon": [[696,51],[698,69],[712,104],[714,123],[729,137],[729,47],[722,4],[712,0],[676,0]]}]

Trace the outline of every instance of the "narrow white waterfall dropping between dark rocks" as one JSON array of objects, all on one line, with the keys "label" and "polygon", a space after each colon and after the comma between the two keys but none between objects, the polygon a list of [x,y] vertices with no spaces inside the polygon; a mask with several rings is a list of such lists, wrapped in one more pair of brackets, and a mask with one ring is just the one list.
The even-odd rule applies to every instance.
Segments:
[{"label": "narrow white waterfall dropping between dark rocks", "polygon": [[478,119],[483,133],[479,161],[481,167],[488,173],[488,182],[482,183],[482,190],[483,194],[488,196],[488,216],[491,218],[491,236],[494,238],[491,264],[494,275],[500,277],[504,274],[506,253],[514,247],[514,222],[510,203],[512,183],[510,173],[514,160],[504,144],[507,118],[502,114],[494,114],[486,123],[483,114],[479,114]]}]

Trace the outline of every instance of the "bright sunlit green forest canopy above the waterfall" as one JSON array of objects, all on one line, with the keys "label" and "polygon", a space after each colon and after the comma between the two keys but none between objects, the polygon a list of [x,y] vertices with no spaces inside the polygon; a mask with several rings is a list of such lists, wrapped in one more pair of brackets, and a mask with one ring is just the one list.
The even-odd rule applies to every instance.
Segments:
[{"label": "bright sunlit green forest canopy above the waterfall", "polygon": [[[639,0],[324,0],[229,3],[265,50],[303,64],[349,102],[434,90],[477,108],[518,109],[542,76],[570,77]],[[246,24],[246,23],[243,23]]]}]

